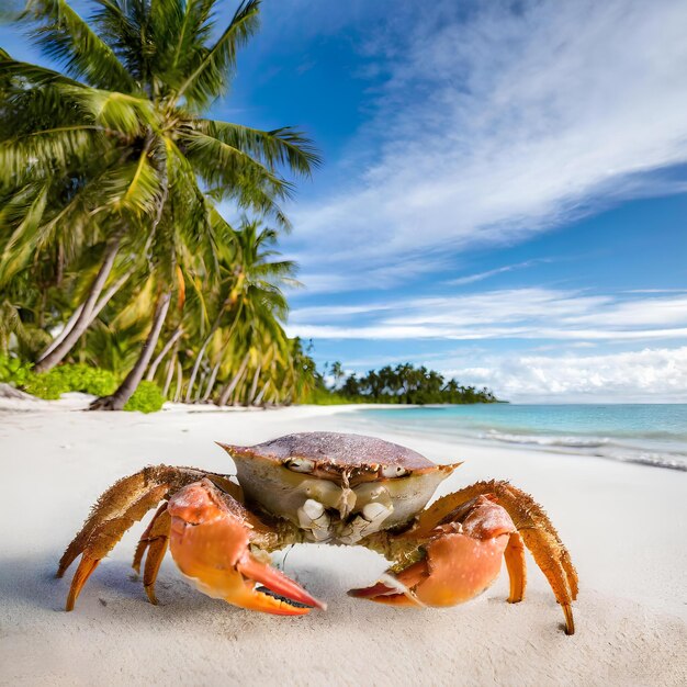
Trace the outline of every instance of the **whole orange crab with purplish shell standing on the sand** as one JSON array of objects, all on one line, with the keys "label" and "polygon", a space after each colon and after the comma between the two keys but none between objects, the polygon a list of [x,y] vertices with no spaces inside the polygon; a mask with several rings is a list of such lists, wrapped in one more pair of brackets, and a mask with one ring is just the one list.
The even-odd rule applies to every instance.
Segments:
[{"label": "whole orange crab with purplish shell standing on the sand", "polygon": [[157,507],[133,562],[139,573],[145,555],[143,584],[153,604],[169,548],[181,573],[211,597],[283,616],[324,610],[324,602],[270,565],[270,552],[305,542],[354,544],[384,555],[392,563],[386,573],[349,594],[391,606],[468,601],[497,578],[503,556],[508,601],[516,604],[525,594],[527,545],[573,634],[577,574],[571,556],[542,508],[508,482],[477,482],[427,507],[461,463],[435,464],[381,439],[335,432],[219,446],[234,459],[236,482],[196,468],[156,465],[100,497],[59,562],[61,577],[81,556],[67,610],[124,532]]}]

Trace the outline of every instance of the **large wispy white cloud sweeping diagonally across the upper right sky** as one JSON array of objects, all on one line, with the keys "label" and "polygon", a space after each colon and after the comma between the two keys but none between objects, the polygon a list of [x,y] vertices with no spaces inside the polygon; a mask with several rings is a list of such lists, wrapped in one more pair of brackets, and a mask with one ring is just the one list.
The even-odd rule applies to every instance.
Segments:
[{"label": "large wispy white cloud sweeping diagonally across the upper right sky", "polygon": [[431,271],[437,251],[685,190],[652,173],[687,160],[684,2],[457,7],[433,3],[371,48],[390,76],[360,133],[367,166],[292,211],[306,273],[354,286],[397,260]]}]

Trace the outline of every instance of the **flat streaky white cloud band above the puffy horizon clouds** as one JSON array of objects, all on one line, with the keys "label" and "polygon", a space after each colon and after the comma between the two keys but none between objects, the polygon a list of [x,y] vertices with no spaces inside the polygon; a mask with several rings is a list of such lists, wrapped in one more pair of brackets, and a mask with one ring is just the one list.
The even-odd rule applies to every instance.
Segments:
[{"label": "flat streaky white cloud band above the puffy horizon clouds", "polygon": [[675,339],[687,338],[687,294],[627,299],[527,288],[399,297],[296,308],[288,330],[317,339]]}]

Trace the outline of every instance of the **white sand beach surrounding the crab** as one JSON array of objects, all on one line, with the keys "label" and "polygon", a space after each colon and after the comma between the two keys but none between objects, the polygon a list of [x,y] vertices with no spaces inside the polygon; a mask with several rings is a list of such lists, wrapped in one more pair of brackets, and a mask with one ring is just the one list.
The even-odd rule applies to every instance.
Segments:
[{"label": "white sand beach surrounding the crab", "polygon": [[385,567],[380,556],[297,547],[286,572],[329,609],[280,618],[204,597],[168,556],[154,607],[129,567],[143,525],[66,613],[69,582],[54,578],[57,560],[117,477],[156,462],[229,471],[215,439],[370,433],[341,408],[150,416],[70,409],[81,405],[0,403],[0,684],[687,684],[685,473],[417,436],[380,435],[436,461],[466,460],[442,492],[506,477],[544,505],[579,572],[574,637],[562,632],[563,616],[531,559],[522,604],[505,602],[504,571],[464,606],[393,609],[345,595],[375,579]]}]

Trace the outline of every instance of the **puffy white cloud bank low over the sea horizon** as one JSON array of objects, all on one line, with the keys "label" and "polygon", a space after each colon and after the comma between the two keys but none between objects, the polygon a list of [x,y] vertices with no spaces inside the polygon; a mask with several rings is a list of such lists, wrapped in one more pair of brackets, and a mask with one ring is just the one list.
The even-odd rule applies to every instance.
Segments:
[{"label": "puffy white cloud bank low over the sea horizon", "polygon": [[510,401],[687,402],[687,346],[601,356],[515,356],[442,369]]}]

